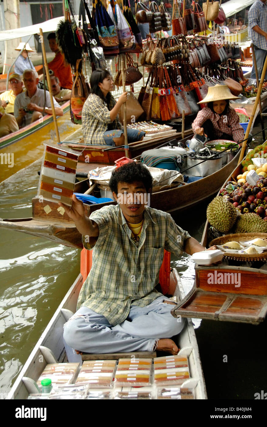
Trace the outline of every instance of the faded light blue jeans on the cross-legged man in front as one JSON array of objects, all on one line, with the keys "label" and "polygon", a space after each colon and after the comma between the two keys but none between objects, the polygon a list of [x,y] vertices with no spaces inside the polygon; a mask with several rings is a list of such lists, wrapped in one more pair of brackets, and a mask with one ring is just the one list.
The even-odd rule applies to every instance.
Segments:
[{"label": "faded light blue jeans on the cross-legged man in front", "polygon": [[170,338],[183,329],[185,319],[171,315],[172,304],[161,295],[146,307],[132,304],[127,319],[112,326],[90,308],[81,307],[64,325],[70,347],[85,353],[153,351],[157,339]]}]

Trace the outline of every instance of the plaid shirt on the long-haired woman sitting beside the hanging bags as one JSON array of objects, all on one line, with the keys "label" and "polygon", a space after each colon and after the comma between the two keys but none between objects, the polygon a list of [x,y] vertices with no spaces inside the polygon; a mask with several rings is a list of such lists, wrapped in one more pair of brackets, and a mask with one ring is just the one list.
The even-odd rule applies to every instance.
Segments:
[{"label": "plaid shirt on the long-haired woman sitting beside the hanging bags", "polygon": [[112,122],[110,110],[116,105],[113,96],[107,104],[96,94],[90,94],[81,112],[81,127],[85,144],[106,145],[104,132],[111,129],[122,129],[119,117]]}]

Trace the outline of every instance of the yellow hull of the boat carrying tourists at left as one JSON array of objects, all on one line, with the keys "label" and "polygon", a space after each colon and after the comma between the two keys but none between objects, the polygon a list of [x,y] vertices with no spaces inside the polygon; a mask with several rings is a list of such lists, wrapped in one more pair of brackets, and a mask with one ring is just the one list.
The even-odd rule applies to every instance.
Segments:
[{"label": "yellow hull of the boat carrying tourists at left", "polygon": [[[57,118],[61,138],[71,135],[77,126],[70,120],[70,102],[63,108],[64,115]],[[41,158],[44,143],[56,143],[55,125],[50,115],[0,138],[0,182]]]}]

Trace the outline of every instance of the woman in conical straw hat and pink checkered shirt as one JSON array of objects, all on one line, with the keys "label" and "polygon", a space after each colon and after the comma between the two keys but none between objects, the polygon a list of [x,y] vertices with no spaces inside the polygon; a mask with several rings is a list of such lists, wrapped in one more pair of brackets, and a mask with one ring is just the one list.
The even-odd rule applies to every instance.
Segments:
[{"label": "woman in conical straw hat and pink checkered shirt", "polygon": [[229,100],[237,99],[226,85],[215,85],[208,89],[208,94],[198,104],[207,103],[207,107],[197,113],[192,123],[196,135],[206,135],[209,140],[226,139],[241,142],[244,140],[244,129],[239,117]]}]

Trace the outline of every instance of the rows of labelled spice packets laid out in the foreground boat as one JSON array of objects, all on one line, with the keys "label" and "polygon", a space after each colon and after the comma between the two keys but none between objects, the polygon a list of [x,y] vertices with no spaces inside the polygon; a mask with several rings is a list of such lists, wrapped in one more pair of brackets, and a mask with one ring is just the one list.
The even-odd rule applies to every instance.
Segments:
[{"label": "rows of labelled spice packets laid out in the foreground boat", "polygon": [[48,364],[40,388],[44,378],[52,380],[48,399],[194,399],[194,390],[183,386],[190,378],[188,358],[178,355]]}]

